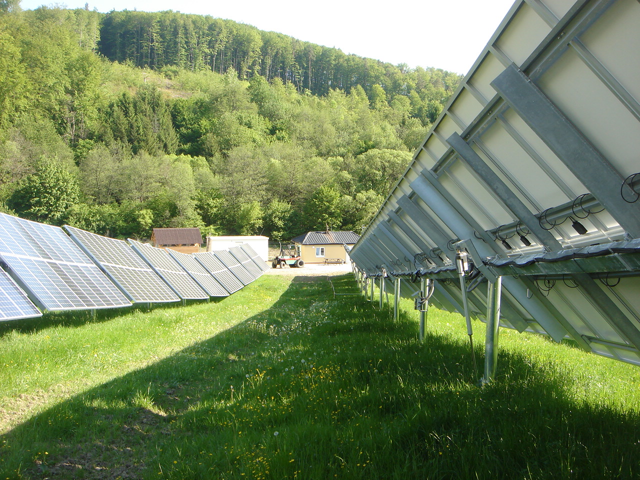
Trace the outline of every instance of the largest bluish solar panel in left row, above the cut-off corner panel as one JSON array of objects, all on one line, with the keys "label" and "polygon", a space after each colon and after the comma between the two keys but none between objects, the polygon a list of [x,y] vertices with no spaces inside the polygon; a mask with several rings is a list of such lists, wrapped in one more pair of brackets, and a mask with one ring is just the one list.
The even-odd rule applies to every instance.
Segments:
[{"label": "largest bluish solar panel in left row, above the cut-off corner panel", "polygon": [[[60,227],[0,214],[0,257],[6,271],[42,309],[131,305]],[[29,309],[31,313],[35,314]]]}]

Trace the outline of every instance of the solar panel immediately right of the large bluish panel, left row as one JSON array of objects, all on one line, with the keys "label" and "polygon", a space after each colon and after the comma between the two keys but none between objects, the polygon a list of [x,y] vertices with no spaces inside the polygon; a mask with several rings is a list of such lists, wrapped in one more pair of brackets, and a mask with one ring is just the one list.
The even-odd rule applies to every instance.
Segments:
[{"label": "solar panel immediately right of the large bluish panel, left row", "polygon": [[125,241],[92,234],[68,225],[65,225],[65,228],[78,246],[134,303],[180,300]]}]

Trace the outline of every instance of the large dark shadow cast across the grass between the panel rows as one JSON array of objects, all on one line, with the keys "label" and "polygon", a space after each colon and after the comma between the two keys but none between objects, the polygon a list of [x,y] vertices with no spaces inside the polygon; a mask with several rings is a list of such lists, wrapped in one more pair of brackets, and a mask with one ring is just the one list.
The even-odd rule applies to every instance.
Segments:
[{"label": "large dark shadow cast across the grass between the panel rows", "polygon": [[[333,280],[348,285],[349,276]],[[345,287],[347,288],[347,287]],[[247,301],[251,301],[248,296]],[[580,404],[561,365],[292,282],[273,307],[72,397],[0,438],[3,477],[548,479],[640,475],[640,420]]]}]

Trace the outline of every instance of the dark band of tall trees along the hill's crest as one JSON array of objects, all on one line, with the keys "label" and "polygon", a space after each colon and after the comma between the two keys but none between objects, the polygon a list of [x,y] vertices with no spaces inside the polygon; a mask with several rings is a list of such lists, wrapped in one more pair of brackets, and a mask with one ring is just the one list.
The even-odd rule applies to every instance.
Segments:
[{"label": "dark band of tall trees along the hill's crest", "polygon": [[441,101],[459,81],[458,75],[437,68],[409,70],[232,20],[177,12],[109,12],[102,19],[99,48],[110,60],[136,67],[220,74],[233,68],[240,79],[280,78],[315,95],[332,88],[349,92],[356,85],[371,95],[377,84],[390,98],[440,90],[429,97]]}]

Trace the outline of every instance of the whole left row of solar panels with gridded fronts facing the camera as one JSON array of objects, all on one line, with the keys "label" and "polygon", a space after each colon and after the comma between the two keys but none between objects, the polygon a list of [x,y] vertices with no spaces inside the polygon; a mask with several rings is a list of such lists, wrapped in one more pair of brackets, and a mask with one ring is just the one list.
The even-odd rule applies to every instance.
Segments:
[{"label": "whole left row of solar panels with gridded fronts facing the camera", "polygon": [[224,297],[268,269],[248,244],[188,255],[64,228],[0,214],[0,320]]}]

